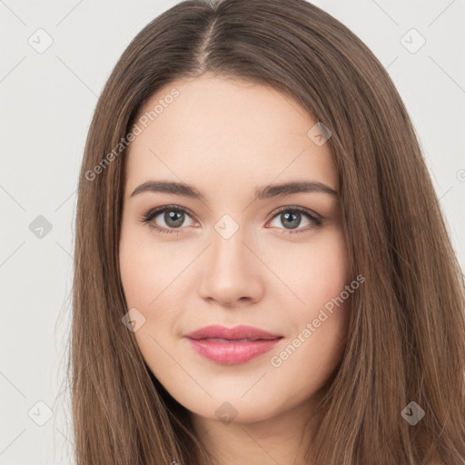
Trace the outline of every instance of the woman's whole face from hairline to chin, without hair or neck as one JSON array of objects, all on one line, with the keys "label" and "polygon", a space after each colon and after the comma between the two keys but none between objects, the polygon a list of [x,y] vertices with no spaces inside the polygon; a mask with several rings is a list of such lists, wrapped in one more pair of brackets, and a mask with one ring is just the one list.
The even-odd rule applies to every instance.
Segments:
[{"label": "woman's whole face from hairline to chin, without hair or neck", "polygon": [[[341,292],[351,293],[336,167],[317,122],[272,87],[211,74],[167,85],[140,116],[120,267],[144,360],[205,419],[311,406],[341,361]],[[185,337],[210,325],[272,336]]]}]

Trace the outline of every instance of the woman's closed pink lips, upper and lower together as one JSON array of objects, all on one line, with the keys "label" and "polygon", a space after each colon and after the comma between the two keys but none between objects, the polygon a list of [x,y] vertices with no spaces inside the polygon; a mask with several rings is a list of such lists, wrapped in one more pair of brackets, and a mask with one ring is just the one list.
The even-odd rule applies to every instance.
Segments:
[{"label": "woman's closed pink lips, upper and lower together", "polygon": [[252,360],[264,352],[271,351],[282,339],[279,334],[244,325],[232,329],[218,325],[205,326],[185,334],[184,337],[191,343],[194,351],[207,359],[226,365]]}]

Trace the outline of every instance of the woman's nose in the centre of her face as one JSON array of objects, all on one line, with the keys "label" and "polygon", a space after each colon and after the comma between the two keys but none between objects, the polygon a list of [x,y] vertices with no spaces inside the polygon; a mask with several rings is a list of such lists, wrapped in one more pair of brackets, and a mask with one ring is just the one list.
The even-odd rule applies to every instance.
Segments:
[{"label": "woman's nose in the centre of her face", "polygon": [[203,255],[199,286],[203,299],[225,307],[248,306],[262,299],[265,267],[244,242],[241,229],[229,239],[214,232],[213,243]]}]

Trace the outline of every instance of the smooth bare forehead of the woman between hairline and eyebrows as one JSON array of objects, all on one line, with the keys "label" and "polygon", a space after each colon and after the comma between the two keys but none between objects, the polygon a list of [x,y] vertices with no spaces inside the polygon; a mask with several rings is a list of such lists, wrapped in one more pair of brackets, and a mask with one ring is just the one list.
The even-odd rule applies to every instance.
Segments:
[{"label": "smooth bare forehead of the woman between hairline and eyebrows", "polygon": [[173,81],[139,111],[126,186],[163,178],[234,190],[304,177],[337,190],[329,144],[308,134],[316,123],[268,85],[211,74]]}]

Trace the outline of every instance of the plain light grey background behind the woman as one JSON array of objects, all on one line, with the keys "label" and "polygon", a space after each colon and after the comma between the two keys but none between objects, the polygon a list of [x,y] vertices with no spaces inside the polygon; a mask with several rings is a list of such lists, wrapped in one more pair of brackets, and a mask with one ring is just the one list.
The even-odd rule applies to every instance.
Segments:
[{"label": "plain light grey background behind the woman", "polygon": [[[174,3],[0,0],[0,465],[72,463],[62,381],[86,132],[124,48]],[[465,0],[314,3],[359,35],[391,74],[464,268]],[[28,43],[31,36],[39,41],[39,28],[54,41],[43,54]],[[401,43],[411,28],[426,39],[414,54]],[[411,34],[404,41],[412,47],[419,36]],[[39,215],[52,225],[43,238],[29,228]],[[36,421],[46,420],[47,408],[38,401],[53,411],[43,426]]]}]

